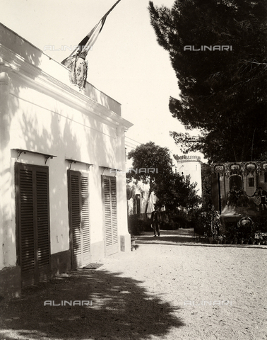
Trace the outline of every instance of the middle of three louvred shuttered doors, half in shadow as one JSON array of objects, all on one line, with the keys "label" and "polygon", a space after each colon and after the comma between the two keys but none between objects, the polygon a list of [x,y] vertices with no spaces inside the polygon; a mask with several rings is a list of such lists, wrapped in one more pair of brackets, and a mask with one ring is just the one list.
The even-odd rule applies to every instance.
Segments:
[{"label": "middle of three louvred shuttered doors, half in shadow", "polygon": [[72,268],[90,262],[89,181],[87,174],[68,171]]}]

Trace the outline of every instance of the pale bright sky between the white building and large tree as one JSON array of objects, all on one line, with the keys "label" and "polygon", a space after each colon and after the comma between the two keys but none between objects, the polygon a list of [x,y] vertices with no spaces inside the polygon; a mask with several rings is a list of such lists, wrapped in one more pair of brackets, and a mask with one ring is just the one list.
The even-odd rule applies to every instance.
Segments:
[{"label": "pale bright sky between the white building and large tree", "polygon": [[[115,2],[1,0],[0,22],[61,62],[71,53],[64,46],[78,45]],[[153,3],[171,8],[174,0]],[[168,107],[170,96],[179,97],[177,78],[150,25],[148,0],[121,0],[86,60],[88,82],[119,101],[122,117],[133,123],[127,137],[181,154],[170,131],[185,130]]]}]

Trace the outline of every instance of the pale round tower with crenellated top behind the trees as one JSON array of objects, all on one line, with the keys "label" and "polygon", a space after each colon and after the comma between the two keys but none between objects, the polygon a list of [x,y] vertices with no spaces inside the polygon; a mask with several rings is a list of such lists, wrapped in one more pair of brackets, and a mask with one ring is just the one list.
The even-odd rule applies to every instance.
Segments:
[{"label": "pale round tower with crenellated top behind the trees", "polygon": [[190,175],[190,182],[196,182],[196,191],[198,196],[202,196],[202,181],[201,181],[201,157],[196,155],[174,155],[177,162],[177,168],[174,170],[184,176]]}]

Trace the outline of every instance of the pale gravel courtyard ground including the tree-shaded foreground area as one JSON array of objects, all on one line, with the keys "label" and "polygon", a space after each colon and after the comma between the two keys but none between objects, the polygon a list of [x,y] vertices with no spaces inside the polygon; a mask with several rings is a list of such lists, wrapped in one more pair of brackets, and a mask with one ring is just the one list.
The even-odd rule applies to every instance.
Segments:
[{"label": "pale gravel courtyard ground including the tree-shaded foreground area", "polygon": [[[267,339],[267,246],[145,233],[136,250],[2,301],[1,340]],[[55,305],[44,305],[45,301]],[[60,305],[90,300],[90,305]]]}]

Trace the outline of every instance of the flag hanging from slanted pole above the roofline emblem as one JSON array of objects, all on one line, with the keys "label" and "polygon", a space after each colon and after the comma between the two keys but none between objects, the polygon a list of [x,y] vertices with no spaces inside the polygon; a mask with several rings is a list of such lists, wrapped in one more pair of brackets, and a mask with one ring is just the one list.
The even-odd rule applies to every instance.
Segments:
[{"label": "flag hanging from slanted pole above the roofline emblem", "polygon": [[98,35],[100,34],[107,16],[109,15],[109,13],[112,11],[112,9],[117,6],[117,4],[119,4],[118,0],[116,2],[116,4],[114,4],[112,6],[112,8],[109,9],[109,11],[107,11],[107,13],[105,13],[105,16],[102,17],[102,19],[100,20],[99,23],[97,23],[95,25],[95,27],[93,28],[93,30],[90,30],[90,32],[88,33],[88,35],[85,36],[85,38],[83,38],[83,40],[79,43],[79,45],[76,47],[76,50],[74,50],[71,55],[69,55],[69,57],[67,57],[66,59],[64,59],[61,64],[64,64],[66,67],[68,68],[73,68],[75,61],[76,61],[76,57],[81,57],[83,60],[85,60],[86,55],[88,54],[88,51],[90,50],[90,48],[94,45],[95,40],[97,40]]}]

